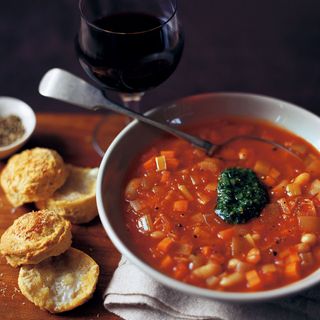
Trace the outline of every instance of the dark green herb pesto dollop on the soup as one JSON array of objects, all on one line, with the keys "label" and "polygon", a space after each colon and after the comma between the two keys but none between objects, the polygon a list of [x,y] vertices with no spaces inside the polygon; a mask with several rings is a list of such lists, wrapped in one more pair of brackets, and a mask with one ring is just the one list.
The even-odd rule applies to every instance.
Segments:
[{"label": "dark green herb pesto dollop on the soup", "polygon": [[258,217],[269,201],[268,192],[251,169],[228,168],[218,179],[215,213],[231,224]]}]

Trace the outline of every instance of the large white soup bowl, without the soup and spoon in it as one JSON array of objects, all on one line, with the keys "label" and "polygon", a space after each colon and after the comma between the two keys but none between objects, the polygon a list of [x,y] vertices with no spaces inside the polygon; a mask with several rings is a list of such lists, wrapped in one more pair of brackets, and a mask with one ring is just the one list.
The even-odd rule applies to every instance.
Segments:
[{"label": "large white soup bowl, without the soup and spoon in it", "polygon": [[[191,96],[151,110],[149,116],[173,126],[198,123],[223,115],[265,119],[296,133],[320,149],[320,118],[291,103],[252,94],[217,93]],[[177,281],[146,263],[134,248],[122,214],[122,191],[132,161],[161,138],[160,130],[137,120],[114,139],[105,153],[98,172],[97,204],[102,224],[115,245],[131,263],[162,284],[190,295],[229,302],[258,302],[295,294],[320,283],[320,268],[295,283],[259,292],[223,292]]]}]

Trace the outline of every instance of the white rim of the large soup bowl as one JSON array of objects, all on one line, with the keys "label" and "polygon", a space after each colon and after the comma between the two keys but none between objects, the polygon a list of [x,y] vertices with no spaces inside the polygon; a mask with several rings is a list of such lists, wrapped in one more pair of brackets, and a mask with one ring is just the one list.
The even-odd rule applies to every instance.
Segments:
[{"label": "white rim of the large soup bowl", "polygon": [[[259,99],[264,101],[268,100],[271,103],[286,104],[290,106],[292,110],[295,110],[295,112],[298,112],[299,114],[303,114],[306,117],[312,117],[313,119],[319,121],[319,124],[320,124],[320,117],[310,112],[309,110],[303,109],[302,107],[299,107],[285,100],[269,97],[266,95],[252,94],[252,93],[240,93],[240,92],[202,93],[202,94],[183,97],[181,99],[168,102],[164,105],[181,103],[183,101],[186,101],[192,98],[202,98],[202,97],[210,97],[210,96],[212,96],[213,98],[217,96],[225,97],[225,98],[227,97],[233,97],[233,98],[240,97],[240,98],[247,98],[247,99],[254,98],[254,99]],[[150,116],[160,108],[161,106],[153,108],[148,112],[146,112],[146,115]],[[138,122],[139,122],[138,120],[133,120],[132,122],[130,122],[124,129],[122,129],[122,131],[120,131],[120,133],[115,137],[115,139],[112,141],[112,143],[108,147],[99,166],[99,171],[97,176],[97,187],[96,187],[97,207],[98,207],[98,213],[99,213],[99,217],[102,222],[102,225],[107,235],[109,236],[110,240],[112,241],[113,245],[124,257],[126,257],[129,260],[129,262],[131,262],[133,265],[138,267],[140,270],[143,270],[144,272],[146,272],[146,274],[151,276],[154,280],[160,282],[161,284],[169,288],[172,288],[173,290],[178,290],[189,295],[215,299],[215,300],[220,300],[225,302],[246,302],[246,303],[261,302],[261,301],[268,301],[276,298],[288,297],[304,289],[311,288],[312,286],[320,282],[320,268],[319,268],[318,270],[314,271],[312,274],[308,275],[303,279],[300,279],[297,282],[294,282],[292,284],[289,284],[280,288],[272,289],[272,290],[256,291],[256,292],[217,291],[217,290],[197,287],[191,284],[187,284],[187,283],[175,280],[161,273],[160,271],[152,268],[149,264],[147,264],[142,259],[137,257],[133,252],[131,252],[130,249],[128,249],[127,246],[118,237],[116,230],[114,230],[114,228],[112,227],[111,223],[107,218],[107,213],[104,210],[103,199],[102,199],[102,193],[103,193],[102,187],[103,187],[104,172],[106,171],[107,162],[113,149],[119,142],[121,142],[121,140],[125,137],[125,135],[133,127],[135,127],[138,124]],[[319,273],[318,277],[315,276],[316,273]]]}]

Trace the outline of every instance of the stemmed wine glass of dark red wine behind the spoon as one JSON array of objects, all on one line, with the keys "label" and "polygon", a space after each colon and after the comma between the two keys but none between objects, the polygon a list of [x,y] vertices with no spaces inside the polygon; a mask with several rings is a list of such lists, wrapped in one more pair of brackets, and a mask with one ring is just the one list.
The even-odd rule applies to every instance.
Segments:
[{"label": "stemmed wine glass of dark red wine behind the spoon", "polygon": [[[81,66],[105,95],[116,91],[126,107],[141,112],[145,91],[164,82],[181,58],[176,0],[80,0],[79,9]],[[104,121],[94,132],[100,155],[107,147],[105,130]]]}]

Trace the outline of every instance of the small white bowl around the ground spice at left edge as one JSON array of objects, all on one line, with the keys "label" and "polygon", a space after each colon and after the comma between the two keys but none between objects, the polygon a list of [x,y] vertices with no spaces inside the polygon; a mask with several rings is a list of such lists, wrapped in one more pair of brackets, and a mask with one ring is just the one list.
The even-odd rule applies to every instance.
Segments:
[{"label": "small white bowl around the ground spice at left edge", "polygon": [[8,157],[20,149],[36,127],[36,115],[29,105],[16,98],[0,97],[0,117],[9,115],[15,115],[21,119],[25,133],[13,143],[0,147],[0,159]]}]

